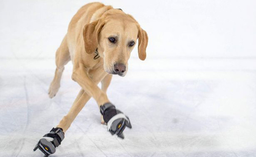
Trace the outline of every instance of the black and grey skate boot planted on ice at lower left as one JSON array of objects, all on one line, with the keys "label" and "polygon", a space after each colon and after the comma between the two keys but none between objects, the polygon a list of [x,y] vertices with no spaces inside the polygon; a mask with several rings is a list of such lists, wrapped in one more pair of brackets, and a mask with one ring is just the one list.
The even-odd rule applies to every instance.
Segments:
[{"label": "black and grey skate boot planted on ice at lower left", "polygon": [[51,154],[54,154],[56,147],[58,147],[64,139],[64,132],[61,128],[53,128],[49,133],[45,134],[39,142],[35,145],[34,151],[37,148],[48,157]]}]

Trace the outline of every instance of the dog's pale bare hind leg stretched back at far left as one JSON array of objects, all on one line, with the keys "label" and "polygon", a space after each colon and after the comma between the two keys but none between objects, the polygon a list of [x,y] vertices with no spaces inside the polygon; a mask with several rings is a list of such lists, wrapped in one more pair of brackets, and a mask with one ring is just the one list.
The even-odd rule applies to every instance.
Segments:
[{"label": "dog's pale bare hind leg stretched back at far left", "polygon": [[55,70],[55,76],[48,90],[48,94],[50,98],[53,98],[58,92],[61,86],[61,78],[62,78],[62,73],[64,71],[64,65],[66,65],[70,61],[70,54],[67,46],[66,35],[61,43],[61,46],[56,51],[55,61],[57,66]]}]

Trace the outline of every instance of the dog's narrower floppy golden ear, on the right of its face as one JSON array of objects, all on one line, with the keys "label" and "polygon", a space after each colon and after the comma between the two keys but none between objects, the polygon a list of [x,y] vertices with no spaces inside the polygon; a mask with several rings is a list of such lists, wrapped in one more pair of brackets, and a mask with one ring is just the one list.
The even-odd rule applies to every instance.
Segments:
[{"label": "dog's narrower floppy golden ear, on the right of its face", "polygon": [[145,60],[146,59],[146,48],[148,46],[148,34],[140,26],[138,26],[138,28],[139,28],[139,33],[138,33],[138,38],[139,38],[139,45],[138,45],[139,58],[141,60]]}]

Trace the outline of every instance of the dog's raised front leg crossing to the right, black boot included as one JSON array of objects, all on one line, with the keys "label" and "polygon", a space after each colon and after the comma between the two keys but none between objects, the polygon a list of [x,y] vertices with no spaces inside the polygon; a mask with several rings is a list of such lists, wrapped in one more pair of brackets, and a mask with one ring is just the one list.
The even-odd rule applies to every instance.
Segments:
[{"label": "dog's raised front leg crossing to the right, black boot included", "polygon": [[[97,69],[97,72],[102,71],[100,73],[101,76],[105,77],[107,75],[103,67]],[[107,124],[108,131],[112,134],[117,134],[120,138],[124,138],[123,131],[125,128],[131,128],[129,118],[123,112],[116,109],[115,105],[109,102],[106,93],[93,81],[93,79],[95,79],[94,76],[90,78],[86,73],[85,67],[80,65],[73,71],[72,79],[77,81],[89,96],[94,97],[100,108],[100,113],[103,115],[103,120]]]}]

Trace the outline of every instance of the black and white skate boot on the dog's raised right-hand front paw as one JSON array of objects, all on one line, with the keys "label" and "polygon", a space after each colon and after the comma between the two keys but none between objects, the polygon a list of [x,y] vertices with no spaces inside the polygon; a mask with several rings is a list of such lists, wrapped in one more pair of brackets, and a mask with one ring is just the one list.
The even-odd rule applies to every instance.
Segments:
[{"label": "black and white skate boot on the dog's raised right-hand front paw", "polygon": [[100,113],[103,115],[104,121],[107,123],[107,130],[110,133],[117,134],[118,137],[124,139],[123,131],[126,127],[131,129],[131,124],[128,116],[120,110],[117,110],[115,105],[106,103],[100,106]]}]

